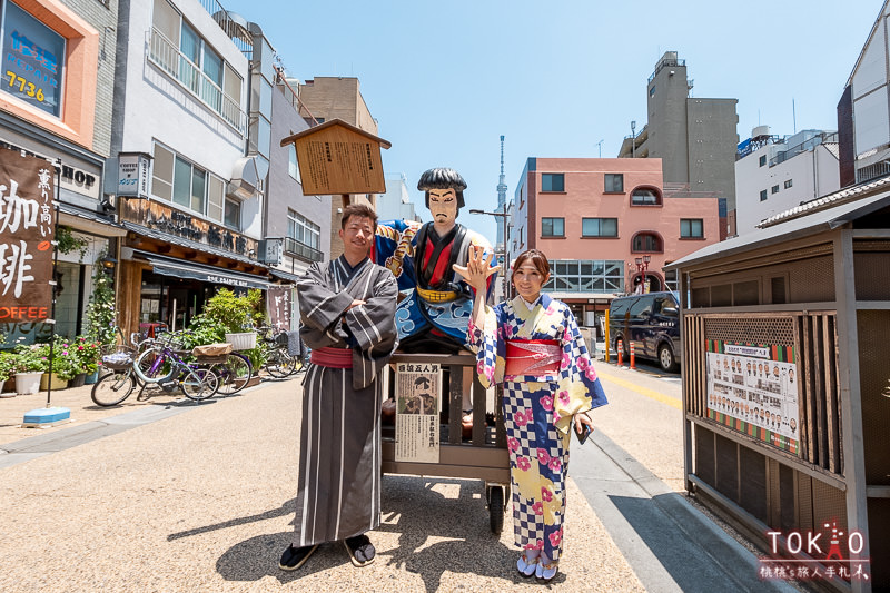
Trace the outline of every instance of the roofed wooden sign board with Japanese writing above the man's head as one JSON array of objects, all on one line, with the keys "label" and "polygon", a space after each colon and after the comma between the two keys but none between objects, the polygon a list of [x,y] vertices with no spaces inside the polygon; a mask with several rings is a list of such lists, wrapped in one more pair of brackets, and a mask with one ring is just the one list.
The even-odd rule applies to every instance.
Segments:
[{"label": "roofed wooden sign board with Japanese writing above the man's head", "polygon": [[294,144],[305,196],[383,194],[380,147],[392,145],[343,120],[332,119],[281,140]]}]

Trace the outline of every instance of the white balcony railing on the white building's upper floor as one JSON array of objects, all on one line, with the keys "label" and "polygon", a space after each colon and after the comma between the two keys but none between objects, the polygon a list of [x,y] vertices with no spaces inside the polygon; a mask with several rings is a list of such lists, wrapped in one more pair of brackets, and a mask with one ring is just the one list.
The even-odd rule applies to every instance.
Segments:
[{"label": "white balcony railing on the white building's upper floor", "polygon": [[147,58],[239,134],[245,134],[247,116],[241,110],[240,101],[222,92],[222,89],[210,77],[205,75],[185,53],[179,51],[177,46],[156,29],[151,29],[149,32]]}]

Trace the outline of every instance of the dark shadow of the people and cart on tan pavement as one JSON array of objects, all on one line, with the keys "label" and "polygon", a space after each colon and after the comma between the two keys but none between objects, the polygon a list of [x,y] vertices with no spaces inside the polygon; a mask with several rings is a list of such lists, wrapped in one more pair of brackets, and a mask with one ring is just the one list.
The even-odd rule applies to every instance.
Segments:
[{"label": "dark shadow of the people and cart on tan pavement", "polygon": [[[457,497],[446,497],[433,490],[435,485],[457,486]],[[424,478],[387,475],[383,480],[383,522],[369,532],[377,547],[377,563],[385,562],[394,573],[414,573],[424,581],[426,591],[437,591],[442,575],[466,574],[467,582],[474,575],[496,576],[526,583],[515,570],[518,552],[504,545],[501,536],[491,532],[488,511],[485,506],[485,485],[482,481],[449,478]],[[168,541],[199,535],[209,531],[265,521],[294,513],[295,501],[287,501],[279,508],[261,514],[238,517],[215,525],[207,525],[170,534]],[[504,528],[513,523],[507,514]],[[375,537],[375,533],[378,534]],[[379,534],[398,535],[395,547],[386,548]],[[435,538],[434,543],[429,543]],[[340,542],[319,546],[313,557],[296,572],[278,569],[277,561],[293,540],[293,532],[257,535],[239,542],[227,550],[217,561],[217,572],[227,581],[258,581],[270,575],[288,583],[318,572],[348,564],[349,560]],[[392,537],[386,538],[392,541]],[[564,581],[560,574],[554,584]]]}]

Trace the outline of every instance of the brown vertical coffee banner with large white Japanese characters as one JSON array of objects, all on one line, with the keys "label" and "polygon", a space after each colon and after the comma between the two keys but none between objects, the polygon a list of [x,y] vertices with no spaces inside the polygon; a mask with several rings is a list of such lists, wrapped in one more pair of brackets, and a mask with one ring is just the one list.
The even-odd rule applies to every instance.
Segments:
[{"label": "brown vertical coffee banner with large white Japanese characters", "polygon": [[0,149],[0,323],[50,316],[53,172],[44,159]]}]

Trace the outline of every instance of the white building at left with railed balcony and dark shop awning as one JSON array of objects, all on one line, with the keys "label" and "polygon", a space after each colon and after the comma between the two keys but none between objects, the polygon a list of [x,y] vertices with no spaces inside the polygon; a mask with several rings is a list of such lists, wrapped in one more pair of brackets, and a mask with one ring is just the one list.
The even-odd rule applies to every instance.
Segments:
[{"label": "white building at left with railed balcony and dark shop awning", "polygon": [[129,231],[121,323],[179,328],[219,285],[268,286],[257,256],[271,85],[254,80],[248,102],[248,23],[215,0],[121,3],[118,33],[112,156],[151,158],[145,199],[115,204]]}]

